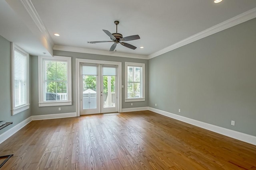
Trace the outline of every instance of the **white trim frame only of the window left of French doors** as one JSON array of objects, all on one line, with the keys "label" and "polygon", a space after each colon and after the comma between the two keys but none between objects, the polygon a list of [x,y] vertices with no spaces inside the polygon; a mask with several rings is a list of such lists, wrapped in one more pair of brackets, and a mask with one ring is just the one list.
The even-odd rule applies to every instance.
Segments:
[{"label": "white trim frame only of the window left of French doors", "polygon": [[[68,100],[66,101],[50,101],[44,102],[44,76],[43,76],[43,59],[67,61],[68,70]],[[72,105],[72,78],[71,78],[71,57],[62,56],[38,56],[38,97],[39,97],[39,107],[45,106],[68,106]]]}]

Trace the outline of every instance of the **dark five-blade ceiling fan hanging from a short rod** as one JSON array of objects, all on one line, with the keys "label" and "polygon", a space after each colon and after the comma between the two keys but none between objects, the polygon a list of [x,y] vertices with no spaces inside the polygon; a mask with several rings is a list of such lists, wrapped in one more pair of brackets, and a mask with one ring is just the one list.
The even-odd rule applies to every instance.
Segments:
[{"label": "dark five-blade ceiling fan hanging from a short rod", "polygon": [[106,33],[111,41],[89,41],[88,43],[94,44],[94,43],[107,43],[107,42],[114,42],[114,44],[110,47],[109,51],[114,51],[116,49],[116,45],[118,43],[120,43],[121,45],[123,45],[124,47],[128,47],[130,49],[135,50],[137,47],[128,44],[128,43],[124,43],[123,41],[132,41],[135,39],[140,39],[139,35],[131,35],[128,37],[123,37],[122,34],[117,33],[117,25],[119,24],[119,21],[114,21],[114,23],[116,24],[116,33],[110,33],[108,30],[102,29],[104,31],[104,33]]}]

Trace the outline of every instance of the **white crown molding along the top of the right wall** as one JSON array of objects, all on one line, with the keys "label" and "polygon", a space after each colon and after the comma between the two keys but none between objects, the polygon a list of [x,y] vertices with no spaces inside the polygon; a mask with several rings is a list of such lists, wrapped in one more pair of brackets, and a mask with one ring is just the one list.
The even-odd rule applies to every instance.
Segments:
[{"label": "white crown molding along the top of the right wall", "polygon": [[208,28],[204,31],[196,33],[195,35],[192,35],[191,37],[183,39],[182,41],[179,41],[178,43],[170,45],[169,47],[166,47],[166,48],[164,48],[160,51],[152,53],[152,54],[148,55],[148,59],[152,59],[154,57],[157,57],[159,55],[162,55],[164,53],[167,53],[169,51],[172,51],[174,49],[177,49],[179,47],[182,47],[184,45],[187,45],[189,43],[197,41],[199,39],[202,39],[204,37],[208,37],[209,35],[212,35],[214,33],[218,33],[220,31],[223,31],[224,29],[228,29],[230,27],[233,27],[233,26],[238,25],[240,23],[243,23],[245,21],[251,20],[253,18],[256,18],[256,8],[253,8],[252,10],[244,12],[244,13],[242,13],[238,16],[235,16],[233,18],[230,18],[229,20],[226,20],[222,23],[214,25],[213,27],[210,27],[210,28]]}]

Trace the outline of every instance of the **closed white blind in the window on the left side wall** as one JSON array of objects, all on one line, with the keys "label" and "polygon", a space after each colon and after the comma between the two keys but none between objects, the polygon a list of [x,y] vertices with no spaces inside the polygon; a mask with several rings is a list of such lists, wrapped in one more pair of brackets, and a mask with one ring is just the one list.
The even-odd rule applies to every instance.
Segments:
[{"label": "closed white blind in the window on the left side wall", "polygon": [[14,50],[14,107],[26,104],[26,54]]}]

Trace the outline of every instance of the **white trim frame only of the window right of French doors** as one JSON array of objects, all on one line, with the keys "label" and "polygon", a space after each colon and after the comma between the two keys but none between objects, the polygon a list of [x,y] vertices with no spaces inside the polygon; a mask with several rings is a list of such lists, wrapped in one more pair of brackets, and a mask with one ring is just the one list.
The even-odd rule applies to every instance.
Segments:
[{"label": "white trim frame only of the window right of French doors", "polygon": [[[142,97],[128,99],[128,66],[141,66],[142,67]],[[125,102],[140,102],[145,101],[145,64],[144,63],[130,63],[125,62]]]}]

